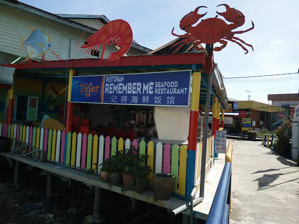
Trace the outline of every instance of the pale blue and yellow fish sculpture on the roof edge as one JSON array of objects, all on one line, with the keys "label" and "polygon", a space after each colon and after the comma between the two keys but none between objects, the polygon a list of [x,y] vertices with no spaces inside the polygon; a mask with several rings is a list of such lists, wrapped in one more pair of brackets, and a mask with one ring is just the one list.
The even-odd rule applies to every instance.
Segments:
[{"label": "pale blue and yellow fish sculpture on the roof edge", "polygon": [[[34,27],[28,28],[32,30],[31,34],[28,36],[27,40],[24,40],[24,38],[21,36],[22,44],[20,49],[17,51],[18,53],[24,46],[26,48],[27,58],[21,61],[28,61],[31,60],[31,58],[36,58],[39,56],[42,56],[44,60],[44,55],[49,51],[55,54],[54,51],[51,50],[52,41],[47,32],[43,30],[37,30]],[[59,58],[57,54],[55,54],[55,56]],[[61,59],[59,58],[59,60]]]}]

